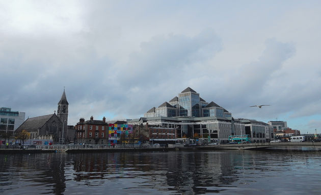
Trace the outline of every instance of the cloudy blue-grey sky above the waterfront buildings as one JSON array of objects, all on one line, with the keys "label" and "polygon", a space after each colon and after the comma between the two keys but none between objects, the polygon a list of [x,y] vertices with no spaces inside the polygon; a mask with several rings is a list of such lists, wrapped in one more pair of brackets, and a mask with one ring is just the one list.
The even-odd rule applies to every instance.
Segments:
[{"label": "cloudy blue-grey sky above the waterfront buildings", "polygon": [[51,114],[65,87],[75,125],[191,87],[234,118],[321,133],[320,23],[320,1],[0,0],[0,107]]}]

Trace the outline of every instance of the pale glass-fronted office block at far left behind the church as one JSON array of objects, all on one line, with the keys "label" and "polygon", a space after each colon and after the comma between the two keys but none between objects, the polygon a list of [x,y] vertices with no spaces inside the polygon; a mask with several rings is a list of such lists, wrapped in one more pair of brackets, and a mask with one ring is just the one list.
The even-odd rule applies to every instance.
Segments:
[{"label": "pale glass-fronted office block at far left behind the church", "polygon": [[24,112],[12,111],[11,108],[0,108],[0,134],[13,132],[23,123]]}]

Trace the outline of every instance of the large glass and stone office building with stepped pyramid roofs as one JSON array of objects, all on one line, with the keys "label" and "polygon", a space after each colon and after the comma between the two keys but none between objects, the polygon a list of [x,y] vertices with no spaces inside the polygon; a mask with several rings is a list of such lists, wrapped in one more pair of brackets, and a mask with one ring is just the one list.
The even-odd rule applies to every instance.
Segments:
[{"label": "large glass and stone office building with stepped pyramid roofs", "polygon": [[245,126],[230,112],[214,102],[208,103],[190,87],[169,102],[151,108],[144,117],[127,123],[172,128],[182,143],[227,143],[230,135],[245,134]]}]

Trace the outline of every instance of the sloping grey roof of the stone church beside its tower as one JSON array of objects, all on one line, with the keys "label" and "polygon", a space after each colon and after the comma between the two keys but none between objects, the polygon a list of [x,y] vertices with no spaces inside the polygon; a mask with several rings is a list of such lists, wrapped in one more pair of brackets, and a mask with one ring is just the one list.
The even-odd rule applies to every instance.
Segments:
[{"label": "sloping grey roof of the stone church beside its tower", "polygon": [[54,115],[57,116],[56,114],[48,114],[48,115],[28,118],[24,121],[22,125],[20,125],[20,127],[18,127],[18,129],[15,132],[21,132],[22,130],[36,131],[40,129]]}]

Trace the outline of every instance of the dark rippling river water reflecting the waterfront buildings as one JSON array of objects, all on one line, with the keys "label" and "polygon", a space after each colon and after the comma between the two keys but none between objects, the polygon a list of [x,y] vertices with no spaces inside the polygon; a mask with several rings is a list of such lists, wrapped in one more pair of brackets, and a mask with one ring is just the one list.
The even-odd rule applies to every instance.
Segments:
[{"label": "dark rippling river water reflecting the waterfront buildings", "polygon": [[320,194],[321,151],[0,155],[0,194]]}]

